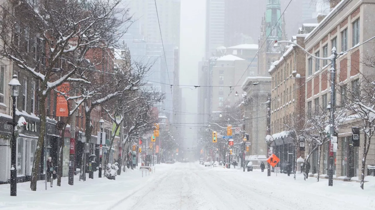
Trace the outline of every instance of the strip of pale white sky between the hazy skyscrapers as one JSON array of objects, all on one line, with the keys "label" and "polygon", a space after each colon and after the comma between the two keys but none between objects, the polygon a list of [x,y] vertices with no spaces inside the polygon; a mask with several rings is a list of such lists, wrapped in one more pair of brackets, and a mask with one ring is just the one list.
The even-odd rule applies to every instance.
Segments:
[{"label": "strip of pale white sky between the hazy skyscrapers", "polygon": [[[198,85],[198,62],[205,50],[205,7],[205,0],[181,0],[180,84]],[[197,90],[182,89],[183,112],[197,112],[197,97]],[[186,123],[196,122],[196,115],[181,116]],[[183,147],[190,148],[196,130],[184,133]]]}]

